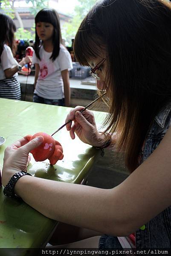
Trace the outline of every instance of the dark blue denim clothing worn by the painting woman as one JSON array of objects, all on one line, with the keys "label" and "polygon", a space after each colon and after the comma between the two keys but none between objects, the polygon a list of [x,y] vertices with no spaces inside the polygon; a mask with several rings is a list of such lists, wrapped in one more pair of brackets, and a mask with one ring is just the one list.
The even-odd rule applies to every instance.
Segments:
[{"label": "dark blue denim clothing worn by the painting woman", "polygon": [[[169,126],[171,126],[171,102],[154,118],[146,136],[140,164],[157,148]],[[120,247],[116,237],[104,235],[100,238],[101,249]],[[171,248],[171,206],[145,224],[145,230],[136,231],[136,248]]]}]

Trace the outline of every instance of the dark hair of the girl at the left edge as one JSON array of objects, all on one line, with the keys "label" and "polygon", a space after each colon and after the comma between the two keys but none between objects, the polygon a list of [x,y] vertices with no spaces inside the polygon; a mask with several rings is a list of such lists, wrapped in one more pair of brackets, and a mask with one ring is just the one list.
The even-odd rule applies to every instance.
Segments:
[{"label": "dark hair of the girl at the left edge", "polygon": [[0,56],[3,52],[4,44],[8,44],[13,51],[14,46],[14,32],[16,26],[9,16],[0,13]]}]

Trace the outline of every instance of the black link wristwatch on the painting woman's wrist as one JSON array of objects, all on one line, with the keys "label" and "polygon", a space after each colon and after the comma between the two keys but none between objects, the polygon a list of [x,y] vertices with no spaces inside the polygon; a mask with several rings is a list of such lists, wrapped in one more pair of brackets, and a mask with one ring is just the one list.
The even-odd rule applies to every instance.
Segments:
[{"label": "black link wristwatch on the painting woman's wrist", "polygon": [[30,175],[32,176],[30,173],[28,172],[24,172],[24,171],[21,171],[21,172],[17,172],[15,173],[11,179],[9,180],[9,182],[6,184],[5,188],[3,189],[3,194],[10,197],[10,198],[19,198],[17,195],[15,195],[14,193],[14,186],[17,182],[17,180],[20,179],[20,177],[23,177],[24,175]]}]

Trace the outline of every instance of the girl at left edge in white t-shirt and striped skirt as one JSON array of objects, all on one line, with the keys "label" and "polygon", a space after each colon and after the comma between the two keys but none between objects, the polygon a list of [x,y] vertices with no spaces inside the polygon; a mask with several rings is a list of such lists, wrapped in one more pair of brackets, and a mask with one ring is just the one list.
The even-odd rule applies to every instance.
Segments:
[{"label": "girl at left edge in white t-shirt and striped skirt", "polygon": [[9,16],[2,13],[0,24],[0,97],[20,100],[21,90],[17,71],[32,60],[26,56],[17,63],[12,54],[16,26]]}]

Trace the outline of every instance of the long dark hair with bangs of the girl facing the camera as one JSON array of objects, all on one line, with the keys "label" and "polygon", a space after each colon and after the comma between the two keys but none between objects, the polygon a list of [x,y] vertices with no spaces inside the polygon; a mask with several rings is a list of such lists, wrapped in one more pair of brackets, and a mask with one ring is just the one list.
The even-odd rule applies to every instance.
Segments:
[{"label": "long dark hair with bangs of the girl facing the camera", "polygon": [[[52,37],[53,52],[50,58],[52,59],[52,61],[55,61],[55,59],[59,55],[60,44],[62,42],[59,15],[54,9],[44,8],[40,12],[38,12],[38,14],[35,17],[35,24],[37,24],[38,22],[47,22],[54,26],[53,37]],[[38,59],[41,60],[39,55],[39,49],[40,49],[40,39],[38,37],[36,28],[35,28],[35,54],[38,57]]]}]

